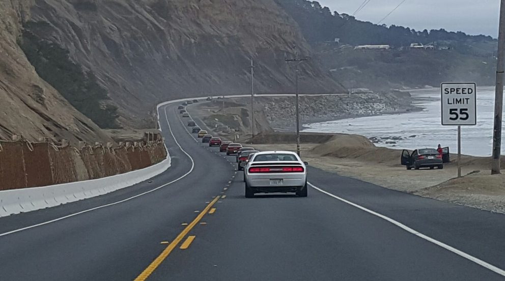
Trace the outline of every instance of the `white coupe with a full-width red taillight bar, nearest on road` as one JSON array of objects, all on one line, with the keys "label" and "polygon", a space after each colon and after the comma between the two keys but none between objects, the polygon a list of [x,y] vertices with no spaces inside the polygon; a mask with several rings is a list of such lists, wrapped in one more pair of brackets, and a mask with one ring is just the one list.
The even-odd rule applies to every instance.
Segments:
[{"label": "white coupe with a full-width red taillight bar, nearest on road", "polygon": [[270,192],[295,192],[306,197],[307,165],[290,151],[255,153],[244,167],[245,197]]}]

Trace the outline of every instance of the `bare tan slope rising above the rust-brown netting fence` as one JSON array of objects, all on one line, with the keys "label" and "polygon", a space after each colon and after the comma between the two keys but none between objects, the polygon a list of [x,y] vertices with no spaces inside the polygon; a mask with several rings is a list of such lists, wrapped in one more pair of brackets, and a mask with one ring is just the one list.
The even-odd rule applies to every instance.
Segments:
[{"label": "bare tan slope rising above the rust-brown netting fence", "polygon": [[17,41],[31,1],[0,0],[0,139],[23,135],[37,140],[67,138],[110,141],[87,117],[37,75]]}]

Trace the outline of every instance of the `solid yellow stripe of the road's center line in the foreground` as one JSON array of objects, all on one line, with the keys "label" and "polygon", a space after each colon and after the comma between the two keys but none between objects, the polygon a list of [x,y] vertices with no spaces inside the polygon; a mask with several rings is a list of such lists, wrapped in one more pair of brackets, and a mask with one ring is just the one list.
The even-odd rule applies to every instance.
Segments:
[{"label": "solid yellow stripe of the road's center line in the foreground", "polygon": [[210,202],[209,205],[207,205],[207,207],[205,207],[205,209],[200,214],[198,214],[198,216],[193,221],[191,221],[191,223],[189,223],[189,225],[186,228],[184,228],[184,230],[179,235],[177,235],[175,240],[172,241],[172,243],[170,243],[161,252],[161,254],[146,269],[144,269],[144,271],[140,275],[138,275],[135,278],[134,281],[146,280],[154,272],[154,270],[156,270],[156,268],[158,268],[158,266],[166,259],[166,257],[170,255],[170,253],[172,252],[172,250],[175,249],[177,244],[179,244],[179,242],[182,241],[182,239],[194,228],[194,226],[196,226],[200,222],[200,220],[205,216],[205,214],[209,212],[210,208],[212,208],[212,206],[217,202],[217,200],[219,200],[219,198],[220,196],[216,196],[216,198],[214,198],[214,200],[212,200],[212,202]]}]

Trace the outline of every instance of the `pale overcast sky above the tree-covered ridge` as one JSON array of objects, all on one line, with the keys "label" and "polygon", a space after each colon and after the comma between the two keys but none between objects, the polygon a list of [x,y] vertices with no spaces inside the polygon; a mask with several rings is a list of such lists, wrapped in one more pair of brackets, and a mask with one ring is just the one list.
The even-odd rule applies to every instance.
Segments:
[{"label": "pale overcast sky above the tree-covered ridge", "polygon": [[[339,14],[350,14],[364,0],[319,0]],[[355,17],[378,23],[402,0],[370,0]],[[383,23],[403,25],[418,31],[440,29],[498,37],[499,0],[406,0]]]}]

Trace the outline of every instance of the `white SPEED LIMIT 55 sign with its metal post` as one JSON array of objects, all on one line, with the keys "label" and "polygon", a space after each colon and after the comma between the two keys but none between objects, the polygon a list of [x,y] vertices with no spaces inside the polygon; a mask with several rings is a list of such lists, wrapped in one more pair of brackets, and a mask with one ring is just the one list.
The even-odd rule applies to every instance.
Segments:
[{"label": "white SPEED LIMIT 55 sign with its metal post", "polygon": [[458,178],[461,177],[461,126],[477,124],[475,83],[442,83],[442,125],[458,126]]}]

